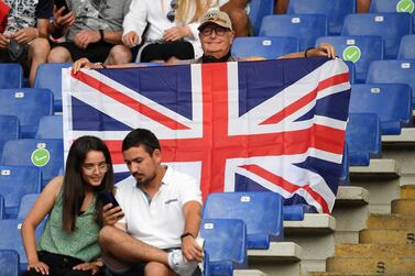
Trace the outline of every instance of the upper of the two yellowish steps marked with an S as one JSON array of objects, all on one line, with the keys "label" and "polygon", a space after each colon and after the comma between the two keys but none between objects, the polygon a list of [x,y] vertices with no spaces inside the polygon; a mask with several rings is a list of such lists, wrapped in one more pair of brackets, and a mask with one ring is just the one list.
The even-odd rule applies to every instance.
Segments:
[{"label": "upper of the two yellowish steps marked with an S", "polygon": [[415,245],[415,229],[365,229],[359,232],[359,242]]}]

